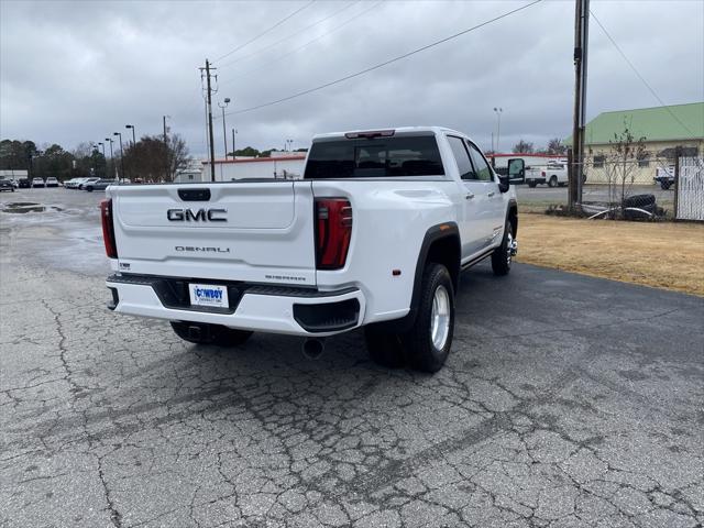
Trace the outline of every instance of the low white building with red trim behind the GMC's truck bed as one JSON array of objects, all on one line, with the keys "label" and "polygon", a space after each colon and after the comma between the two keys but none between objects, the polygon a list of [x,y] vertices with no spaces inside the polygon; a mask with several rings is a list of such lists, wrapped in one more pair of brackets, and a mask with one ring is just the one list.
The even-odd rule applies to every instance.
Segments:
[{"label": "low white building with red trim behind the GMC's truck bed", "polygon": [[[302,178],[306,154],[293,152],[286,154],[274,157],[216,160],[216,182],[232,182],[243,178]],[[210,162],[202,162],[202,180],[210,182]]]}]

